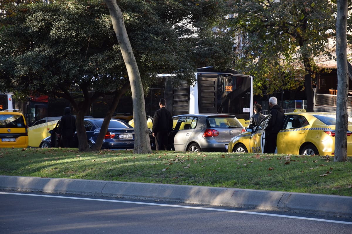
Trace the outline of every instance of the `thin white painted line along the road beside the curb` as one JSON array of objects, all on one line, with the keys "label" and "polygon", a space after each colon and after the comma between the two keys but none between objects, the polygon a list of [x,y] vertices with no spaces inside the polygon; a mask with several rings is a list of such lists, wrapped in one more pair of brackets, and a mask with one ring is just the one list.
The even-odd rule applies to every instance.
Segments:
[{"label": "thin white painted line along the road beside the curb", "polygon": [[96,198],[76,198],[76,197],[65,197],[65,196],[57,196],[57,195],[40,195],[40,194],[6,193],[6,192],[0,192],[0,194],[23,195],[23,196],[33,196],[33,197],[48,197],[48,198],[65,198],[65,199],[89,200],[89,201],[118,202],[118,203],[130,203],[130,204],[138,204],[138,205],[187,208],[187,209],[202,209],[202,210],[207,210],[207,211],[221,211],[221,212],[241,213],[241,214],[256,214],[256,215],[265,215],[265,216],[275,216],[275,217],[280,217],[280,218],[303,219],[303,220],[332,222],[332,223],[341,223],[341,224],[352,225],[352,222],[346,222],[346,221],[337,221],[337,220],[329,220],[329,219],[315,219],[315,218],[307,218],[307,217],[300,217],[300,216],[268,214],[268,213],[259,213],[259,212],[250,212],[250,211],[234,211],[231,209],[218,209],[218,208],[207,208],[207,207],[196,207],[196,206],[181,206],[181,205],[157,204],[157,203],[150,203],[150,202],[120,201],[120,200],[108,200],[108,199],[96,199]]}]

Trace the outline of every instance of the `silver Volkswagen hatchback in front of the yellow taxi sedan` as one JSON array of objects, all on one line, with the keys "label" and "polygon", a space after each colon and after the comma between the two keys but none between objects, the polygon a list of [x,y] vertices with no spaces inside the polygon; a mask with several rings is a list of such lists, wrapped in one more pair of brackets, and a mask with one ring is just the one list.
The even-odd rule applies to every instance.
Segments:
[{"label": "silver Volkswagen hatchback in front of the yellow taxi sedan", "polygon": [[169,144],[177,151],[227,152],[231,138],[244,130],[234,115],[189,114],[174,116],[173,120]]}]

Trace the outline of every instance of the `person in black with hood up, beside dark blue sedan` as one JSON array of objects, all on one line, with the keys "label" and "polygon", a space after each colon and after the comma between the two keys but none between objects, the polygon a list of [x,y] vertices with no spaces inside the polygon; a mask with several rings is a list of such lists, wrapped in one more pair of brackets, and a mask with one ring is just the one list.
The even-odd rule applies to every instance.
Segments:
[{"label": "person in black with hood up, beside dark blue sedan", "polygon": [[60,145],[64,148],[70,147],[70,143],[73,142],[73,136],[76,131],[76,118],[71,115],[71,108],[65,107],[65,115],[60,119],[59,124],[59,136],[62,137]]}]

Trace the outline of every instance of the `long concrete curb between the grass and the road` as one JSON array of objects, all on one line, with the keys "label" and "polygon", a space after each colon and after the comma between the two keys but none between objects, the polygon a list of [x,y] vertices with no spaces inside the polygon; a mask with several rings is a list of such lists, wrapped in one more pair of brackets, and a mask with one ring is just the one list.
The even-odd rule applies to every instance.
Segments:
[{"label": "long concrete curb between the grass and the road", "polygon": [[0,175],[0,190],[79,194],[352,218],[352,197],[120,181]]}]

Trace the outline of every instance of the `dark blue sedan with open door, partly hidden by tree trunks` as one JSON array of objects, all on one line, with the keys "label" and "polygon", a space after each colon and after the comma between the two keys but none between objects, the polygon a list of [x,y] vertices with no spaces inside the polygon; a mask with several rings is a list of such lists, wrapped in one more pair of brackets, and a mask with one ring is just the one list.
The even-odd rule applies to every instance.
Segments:
[{"label": "dark blue sedan with open door, partly hidden by tree trunks", "polygon": [[[103,118],[85,118],[83,120],[84,127],[87,132],[88,145],[90,148],[95,145],[103,121]],[[51,132],[52,136],[46,137],[42,140],[39,147],[46,148],[51,146],[59,146],[59,139],[56,138],[55,132],[57,129],[58,126],[56,126],[54,132]],[[56,144],[51,144],[51,139],[56,139],[58,142]],[[77,136],[74,138],[72,147],[78,147]],[[133,149],[133,147],[134,128],[124,121],[111,119],[101,149]]]}]

